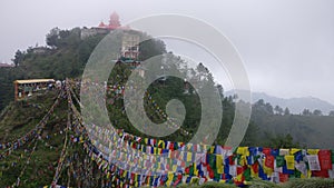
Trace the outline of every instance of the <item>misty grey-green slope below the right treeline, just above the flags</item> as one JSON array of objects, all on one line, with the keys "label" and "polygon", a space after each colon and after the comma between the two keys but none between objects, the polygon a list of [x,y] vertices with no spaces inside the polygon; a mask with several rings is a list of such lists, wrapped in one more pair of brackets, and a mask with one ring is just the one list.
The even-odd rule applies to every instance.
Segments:
[{"label": "misty grey-green slope below the right treeline, just above the flags", "polygon": [[334,148],[334,117],[268,115],[252,119],[259,128],[262,140],[289,133],[303,148]]}]

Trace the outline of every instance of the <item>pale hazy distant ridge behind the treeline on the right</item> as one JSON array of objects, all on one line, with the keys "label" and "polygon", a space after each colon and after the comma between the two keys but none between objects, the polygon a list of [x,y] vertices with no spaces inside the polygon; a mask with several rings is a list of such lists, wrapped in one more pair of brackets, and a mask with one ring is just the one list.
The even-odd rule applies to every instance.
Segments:
[{"label": "pale hazy distant ridge behind the treeline on the right", "polygon": [[[225,96],[233,96],[234,91],[225,92]],[[265,102],[269,102],[273,107],[279,106],[283,109],[288,108],[292,113],[299,115],[304,109],[310,109],[311,111],[318,109],[322,110],[324,115],[328,115],[331,110],[334,110],[334,105],[314,97],[302,97],[302,98],[278,98],[269,96],[265,92],[252,92],[252,102],[256,102],[263,99]]]}]

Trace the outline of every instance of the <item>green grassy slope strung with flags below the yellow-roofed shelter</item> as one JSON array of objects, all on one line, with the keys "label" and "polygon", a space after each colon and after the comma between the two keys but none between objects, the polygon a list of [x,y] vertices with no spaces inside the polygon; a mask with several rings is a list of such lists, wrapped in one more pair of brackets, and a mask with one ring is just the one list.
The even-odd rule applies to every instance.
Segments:
[{"label": "green grassy slope strung with flags below the yellow-roofed shelter", "polygon": [[[98,187],[102,178],[97,165],[89,160],[82,144],[67,145],[66,137],[76,135],[67,130],[68,103],[60,97],[60,102],[49,116],[41,129],[36,129],[38,122],[50,111],[57,100],[58,91],[47,91],[26,101],[11,102],[0,119],[0,144],[13,144],[20,139],[20,147],[0,149],[0,187],[41,187],[51,185],[56,169],[60,170],[58,184],[71,187]],[[71,123],[70,123],[71,125]],[[38,136],[29,132],[36,131]],[[27,142],[23,140],[28,140]],[[63,152],[66,151],[66,152]],[[66,154],[65,165],[59,166],[60,157]],[[61,168],[60,168],[61,169]],[[71,176],[68,170],[90,171],[80,178]],[[84,179],[82,179],[84,178]]]}]

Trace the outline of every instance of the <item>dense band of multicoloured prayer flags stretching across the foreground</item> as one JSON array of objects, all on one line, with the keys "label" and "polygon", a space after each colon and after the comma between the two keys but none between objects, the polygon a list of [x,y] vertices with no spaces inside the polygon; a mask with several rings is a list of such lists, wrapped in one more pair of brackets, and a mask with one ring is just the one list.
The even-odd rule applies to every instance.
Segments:
[{"label": "dense band of multicoloured prayer flags stretching across the foreground", "polygon": [[[89,127],[87,131],[95,139],[95,142],[91,142],[91,137],[82,136],[80,139],[87,154],[106,171],[110,180],[125,187],[177,186],[181,182],[206,181],[243,186],[252,178],[285,182],[289,178],[334,176],[333,150],[262,147],[232,149],[141,138],[124,130],[112,132],[99,126],[85,125],[82,121],[80,123]],[[104,146],[106,144],[107,147]],[[153,157],[161,154],[166,154],[168,159]],[[135,169],[140,174],[134,174]]]}]

